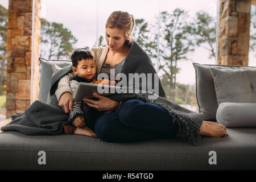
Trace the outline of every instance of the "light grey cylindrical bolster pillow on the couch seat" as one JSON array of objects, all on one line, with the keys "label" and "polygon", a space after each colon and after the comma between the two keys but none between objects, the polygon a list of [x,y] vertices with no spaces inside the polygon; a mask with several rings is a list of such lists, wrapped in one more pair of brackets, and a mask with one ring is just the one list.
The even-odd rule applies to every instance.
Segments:
[{"label": "light grey cylindrical bolster pillow on the couch seat", "polygon": [[222,102],[216,118],[225,127],[256,127],[256,103]]}]

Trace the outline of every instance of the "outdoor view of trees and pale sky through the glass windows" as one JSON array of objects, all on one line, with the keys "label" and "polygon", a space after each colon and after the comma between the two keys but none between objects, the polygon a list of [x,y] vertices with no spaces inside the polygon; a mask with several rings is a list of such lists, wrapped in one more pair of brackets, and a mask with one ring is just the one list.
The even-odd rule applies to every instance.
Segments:
[{"label": "outdoor view of trees and pale sky through the glass windows", "polygon": [[[192,63],[216,64],[218,0],[41,0],[40,57],[70,60],[74,48],[102,46],[115,10],[135,17],[133,39],[151,57],[169,100],[196,110]],[[0,3],[0,108],[5,108],[8,1]],[[251,6],[249,65],[256,65],[256,10]],[[159,39],[159,41],[158,41]],[[1,114],[1,113],[0,113]]]}]

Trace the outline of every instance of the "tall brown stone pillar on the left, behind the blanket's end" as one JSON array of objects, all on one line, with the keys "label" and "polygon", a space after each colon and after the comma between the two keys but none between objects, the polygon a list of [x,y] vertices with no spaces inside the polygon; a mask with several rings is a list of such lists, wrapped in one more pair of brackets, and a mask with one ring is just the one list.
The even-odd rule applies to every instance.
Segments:
[{"label": "tall brown stone pillar on the left, behind the blanket's end", "polygon": [[[34,37],[32,37],[32,0],[9,0],[6,83],[7,118],[10,117],[10,114],[23,112],[30,105],[31,65],[33,65],[34,80],[38,79],[38,81],[35,81],[32,90],[35,90],[35,92],[39,90],[40,0],[34,1],[36,5],[35,33]],[[34,39],[34,64],[31,64],[32,39]],[[35,96],[38,96],[38,93],[35,93]]]}]

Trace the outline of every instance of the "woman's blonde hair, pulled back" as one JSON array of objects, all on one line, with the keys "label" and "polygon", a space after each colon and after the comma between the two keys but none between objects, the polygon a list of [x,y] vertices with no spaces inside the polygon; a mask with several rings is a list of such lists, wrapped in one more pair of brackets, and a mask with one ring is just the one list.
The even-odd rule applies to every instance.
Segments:
[{"label": "woman's blonde hair, pulled back", "polygon": [[125,42],[126,45],[131,44],[131,33],[135,24],[135,19],[133,15],[130,15],[124,11],[114,11],[110,14],[107,22],[106,28],[120,28],[123,30],[123,35],[128,40]]}]

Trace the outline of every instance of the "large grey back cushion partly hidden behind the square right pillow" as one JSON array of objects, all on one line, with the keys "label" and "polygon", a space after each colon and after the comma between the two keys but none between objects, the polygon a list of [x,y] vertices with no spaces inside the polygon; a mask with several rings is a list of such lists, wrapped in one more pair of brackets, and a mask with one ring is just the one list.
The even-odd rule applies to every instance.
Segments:
[{"label": "large grey back cushion partly hidden behind the square right pillow", "polygon": [[218,69],[255,69],[256,67],[247,67],[240,65],[216,65],[216,64],[198,64],[193,63],[196,72],[196,98],[199,112],[203,114],[206,121],[216,121],[216,112],[218,102],[214,87],[214,80],[210,68]]}]

